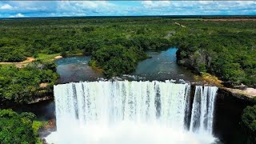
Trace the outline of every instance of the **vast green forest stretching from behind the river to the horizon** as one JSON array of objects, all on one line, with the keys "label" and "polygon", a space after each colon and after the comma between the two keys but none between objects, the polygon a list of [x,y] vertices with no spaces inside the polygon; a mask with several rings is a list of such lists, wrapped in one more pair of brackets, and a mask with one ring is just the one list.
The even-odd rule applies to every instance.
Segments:
[{"label": "vast green forest stretching from behind the river to the horizon", "polygon": [[146,58],[145,50],[177,46],[178,63],[198,74],[214,74],[232,86],[241,83],[255,86],[256,82],[256,23],[252,21],[150,17],[0,22],[2,62],[18,62],[29,56],[48,59],[47,54],[82,53],[92,55],[90,63],[101,67],[110,77],[134,70],[137,62]]}]

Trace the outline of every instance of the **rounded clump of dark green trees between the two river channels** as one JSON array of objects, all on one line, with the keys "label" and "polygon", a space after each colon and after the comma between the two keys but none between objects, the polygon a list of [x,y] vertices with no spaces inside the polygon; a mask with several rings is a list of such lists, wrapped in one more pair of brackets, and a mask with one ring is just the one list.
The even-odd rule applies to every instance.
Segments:
[{"label": "rounded clump of dark green trees between the two river channels", "polygon": [[133,72],[138,61],[144,58],[147,58],[146,54],[136,47],[103,46],[92,54],[90,65],[102,67],[104,74],[110,77]]}]

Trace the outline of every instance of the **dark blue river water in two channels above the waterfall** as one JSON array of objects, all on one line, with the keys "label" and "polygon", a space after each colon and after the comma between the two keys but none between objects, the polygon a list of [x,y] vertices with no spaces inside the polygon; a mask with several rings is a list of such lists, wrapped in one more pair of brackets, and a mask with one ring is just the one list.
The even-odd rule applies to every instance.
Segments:
[{"label": "dark blue river water in two channels above the waterfall", "polygon": [[[147,52],[151,58],[138,63],[134,73],[124,74],[123,79],[129,80],[166,80],[183,79],[194,82],[194,75],[176,63],[176,48],[166,51]],[[60,83],[96,81],[98,78],[105,78],[101,72],[88,66],[90,57],[61,58],[56,61],[57,72],[60,74]]]}]

